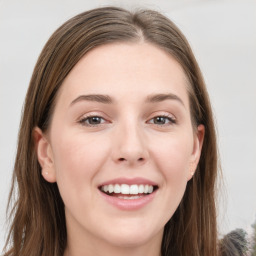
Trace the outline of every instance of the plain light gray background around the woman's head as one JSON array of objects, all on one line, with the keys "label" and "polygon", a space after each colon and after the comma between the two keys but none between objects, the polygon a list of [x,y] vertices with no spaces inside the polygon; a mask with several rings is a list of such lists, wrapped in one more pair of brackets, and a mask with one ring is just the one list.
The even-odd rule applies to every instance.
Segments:
[{"label": "plain light gray background around the woman's head", "polygon": [[216,122],[223,180],[221,233],[256,219],[256,1],[0,0],[0,250],[20,113],[37,57],[68,18],[103,5],[154,8],[190,41]]}]

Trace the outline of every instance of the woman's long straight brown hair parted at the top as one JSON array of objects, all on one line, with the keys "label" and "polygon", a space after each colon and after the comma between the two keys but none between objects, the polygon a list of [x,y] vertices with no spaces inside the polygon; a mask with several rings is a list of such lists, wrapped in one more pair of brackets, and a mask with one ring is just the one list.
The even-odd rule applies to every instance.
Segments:
[{"label": "woman's long straight brown hair parted at the top", "polygon": [[139,41],[163,49],[180,63],[189,81],[193,124],[205,126],[200,162],[178,209],[165,226],[162,255],[218,255],[215,127],[205,83],[191,48],[180,30],[156,11],[133,13],[105,7],[81,13],[57,29],[35,66],[20,125],[9,199],[11,202],[16,196],[16,201],[11,210],[13,222],[6,256],[63,255],[67,242],[64,204],[57,185],[41,176],[33,129],[38,126],[47,131],[63,80],[88,51],[112,42]]}]

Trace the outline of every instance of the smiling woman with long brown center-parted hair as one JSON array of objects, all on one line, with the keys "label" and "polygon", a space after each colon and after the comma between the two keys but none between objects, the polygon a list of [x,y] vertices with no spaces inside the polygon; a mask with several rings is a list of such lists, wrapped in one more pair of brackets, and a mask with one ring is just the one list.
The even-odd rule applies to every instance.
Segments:
[{"label": "smiling woman with long brown center-parted hair", "polygon": [[219,255],[217,166],[179,29],[150,10],[77,15],[32,75],[5,255]]}]

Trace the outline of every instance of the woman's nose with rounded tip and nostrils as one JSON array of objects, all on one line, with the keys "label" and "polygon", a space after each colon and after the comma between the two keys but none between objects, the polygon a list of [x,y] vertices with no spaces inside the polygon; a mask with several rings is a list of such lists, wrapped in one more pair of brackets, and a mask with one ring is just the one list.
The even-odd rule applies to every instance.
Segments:
[{"label": "woman's nose with rounded tip and nostrils", "polygon": [[121,126],[113,137],[112,156],[116,163],[138,165],[148,160],[146,138],[138,126]]}]

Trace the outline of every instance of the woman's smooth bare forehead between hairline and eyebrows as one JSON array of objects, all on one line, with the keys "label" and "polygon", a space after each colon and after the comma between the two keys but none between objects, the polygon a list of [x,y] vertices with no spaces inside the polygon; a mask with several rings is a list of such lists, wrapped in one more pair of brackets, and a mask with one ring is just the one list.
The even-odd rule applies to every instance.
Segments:
[{"label": "woman's smooth bare forehead between hairline and eyebrows", "polygon": [[59,98],[79,94],[113,97],[175,93],[187,102],[187,79],[180,64],[149,43],[115,43],[89,51],[64,80]]}]

